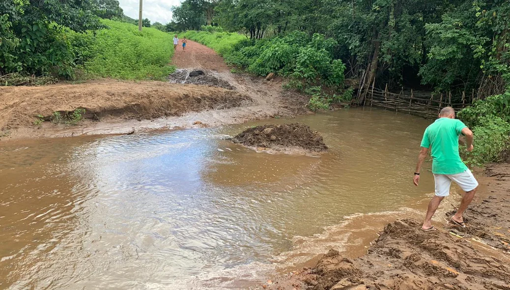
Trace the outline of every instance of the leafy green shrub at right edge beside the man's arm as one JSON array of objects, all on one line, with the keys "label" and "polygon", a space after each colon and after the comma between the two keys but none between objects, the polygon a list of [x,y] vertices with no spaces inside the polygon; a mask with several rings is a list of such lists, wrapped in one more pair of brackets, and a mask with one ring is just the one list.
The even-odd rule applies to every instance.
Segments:
[{"label": "leafy green shrub at right edge beside the man's arm", "polygon": [[498,161],[501,152],[509,148],[510,124],[497,116],[483,116],[473,128],[475,144],[465,160],[469,165],[482,166]]}]

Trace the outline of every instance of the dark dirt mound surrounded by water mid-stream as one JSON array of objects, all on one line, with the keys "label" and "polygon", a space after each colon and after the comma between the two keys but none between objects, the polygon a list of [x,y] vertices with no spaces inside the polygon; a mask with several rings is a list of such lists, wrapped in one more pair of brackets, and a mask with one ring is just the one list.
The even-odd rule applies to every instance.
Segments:
[{"label": "dark dirt mound surrounded by water mid-stream", "polygon": [[247,147],[263,147],[276,150],[298,147],[307,151],[324,152],[326,144],[317,132],[299,123],[264,125],[249,128],[230,138],[234,143]]}]

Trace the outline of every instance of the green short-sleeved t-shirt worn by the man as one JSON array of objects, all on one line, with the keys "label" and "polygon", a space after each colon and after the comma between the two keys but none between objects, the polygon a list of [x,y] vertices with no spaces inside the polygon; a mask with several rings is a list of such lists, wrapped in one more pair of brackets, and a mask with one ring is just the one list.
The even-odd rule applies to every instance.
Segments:
[{"label": "green short-sleeved t-shirt worn by the man", "polygon": [[458,136],[467,126],[458,119],[439,118],[425,129],[421,147],[430,148],[432,173],[457,174],[468,170],[458,155]]}]

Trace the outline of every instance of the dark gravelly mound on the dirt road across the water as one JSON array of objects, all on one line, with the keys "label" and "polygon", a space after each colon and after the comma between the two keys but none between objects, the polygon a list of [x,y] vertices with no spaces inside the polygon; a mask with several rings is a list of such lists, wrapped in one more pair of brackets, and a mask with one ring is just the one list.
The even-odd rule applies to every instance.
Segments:
[{"label": "dark gravelly mound on the dirt road across the water", "polygon": [[211,71],[176,69],[168,76],[170,83],[194,84],[213,86],[233,90],[234,87],[227,81],[222,80]]}]

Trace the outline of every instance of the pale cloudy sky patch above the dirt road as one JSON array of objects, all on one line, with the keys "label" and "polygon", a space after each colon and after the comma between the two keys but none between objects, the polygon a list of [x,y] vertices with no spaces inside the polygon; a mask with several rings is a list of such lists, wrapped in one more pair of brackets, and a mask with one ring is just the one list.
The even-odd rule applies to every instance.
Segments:
[{"label": "pale cloudy sky patch above the dirt road", "polygon": [[[118,0],[124,14],[138,19],[139,0]],[[142,17],[149,18],[150,23],[166,24],[172,20],[172,6],[179,6],[181,0],[143,0]]]}]

